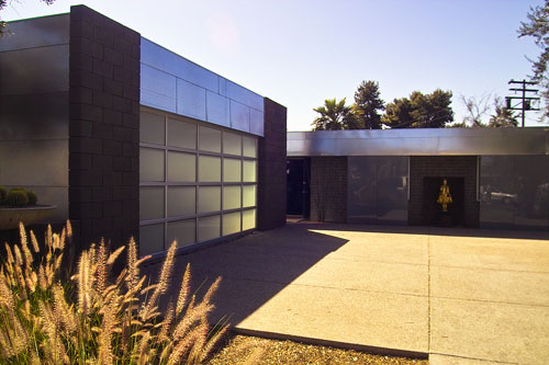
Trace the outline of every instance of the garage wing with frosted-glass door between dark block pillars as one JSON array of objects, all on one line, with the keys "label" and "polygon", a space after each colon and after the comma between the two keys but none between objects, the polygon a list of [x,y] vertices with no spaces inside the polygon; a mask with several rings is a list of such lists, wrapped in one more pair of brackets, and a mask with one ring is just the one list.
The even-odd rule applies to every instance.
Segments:
[{"label": "garage wing with frosted-glass door between dark block pillars", "polygon": [[0,185],[141,253],[285,223],[285,107],[83,5],[0,41]]}]

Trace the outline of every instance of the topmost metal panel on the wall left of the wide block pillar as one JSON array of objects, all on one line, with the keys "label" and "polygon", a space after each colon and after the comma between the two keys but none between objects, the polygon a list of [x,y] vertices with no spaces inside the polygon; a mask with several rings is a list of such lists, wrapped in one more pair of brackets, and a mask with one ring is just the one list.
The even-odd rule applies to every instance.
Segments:
[{"label": "topmost metal panel on the wall left of the wide block pillar", "polygon": [[69,25],[70,14],[9,22],[8,35],[0,42],[0,52],[68,44]]}]

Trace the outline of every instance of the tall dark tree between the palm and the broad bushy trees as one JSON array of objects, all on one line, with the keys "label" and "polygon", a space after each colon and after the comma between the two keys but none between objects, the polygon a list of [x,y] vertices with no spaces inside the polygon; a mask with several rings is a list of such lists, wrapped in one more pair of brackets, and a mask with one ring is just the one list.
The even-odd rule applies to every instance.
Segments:
[{"label": "tall dark tree between the palm and the broad bushy trees", "polygon": [[363,129],[381,129],[381,115],[379,111],[385,109],[380,98],[379,83],[362,81],[355,92],[352,112]]}]

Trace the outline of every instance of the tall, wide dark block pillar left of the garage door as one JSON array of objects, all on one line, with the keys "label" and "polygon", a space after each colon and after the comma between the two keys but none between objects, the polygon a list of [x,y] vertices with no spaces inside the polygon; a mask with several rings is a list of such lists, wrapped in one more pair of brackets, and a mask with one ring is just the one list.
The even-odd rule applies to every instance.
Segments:
[{"label": "tall, wide dark block pillar left of the garage door", "polygon": [[70,9],[69,217],[81,244],[136,237],[141,35]]}]

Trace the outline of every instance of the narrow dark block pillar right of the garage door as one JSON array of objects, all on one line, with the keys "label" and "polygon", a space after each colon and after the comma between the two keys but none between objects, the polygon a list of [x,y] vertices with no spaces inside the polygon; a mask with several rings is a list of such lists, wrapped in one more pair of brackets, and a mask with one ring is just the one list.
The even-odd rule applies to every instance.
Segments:
[{"label": "narrow dark block pillar right of the garage door", "polygon": [[285,119],[287,109],[265,98],[264,137],[258,146],[259,230],[285,225]]}]

